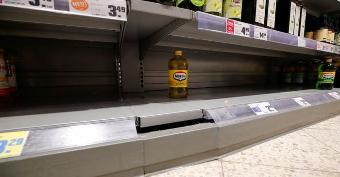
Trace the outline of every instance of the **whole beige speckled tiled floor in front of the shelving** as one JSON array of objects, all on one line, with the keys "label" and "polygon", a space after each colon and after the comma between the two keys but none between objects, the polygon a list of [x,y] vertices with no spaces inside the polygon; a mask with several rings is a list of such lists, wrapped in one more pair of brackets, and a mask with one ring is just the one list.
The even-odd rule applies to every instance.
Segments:
[{"label": "whole beige speckled tiled floor in front of the shelving", "polygon": [[219,160],[151,177],[340,177],[340,115]]}]

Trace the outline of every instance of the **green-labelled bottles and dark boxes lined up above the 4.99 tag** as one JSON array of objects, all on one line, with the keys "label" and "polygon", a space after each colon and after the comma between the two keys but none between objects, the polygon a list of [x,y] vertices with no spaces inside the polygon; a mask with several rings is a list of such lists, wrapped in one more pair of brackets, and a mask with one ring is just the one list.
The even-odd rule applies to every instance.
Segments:
[{"label": "green-labelled bottles and dark boxes lined up above the 4.99 tag", "polygon": [[[154,0],[202,11],[281,32],[304,36],[306,8],[302,0]],[[277,14],[277,15],[276,15]],[[275,23],[280,21],[280,23]]]}]

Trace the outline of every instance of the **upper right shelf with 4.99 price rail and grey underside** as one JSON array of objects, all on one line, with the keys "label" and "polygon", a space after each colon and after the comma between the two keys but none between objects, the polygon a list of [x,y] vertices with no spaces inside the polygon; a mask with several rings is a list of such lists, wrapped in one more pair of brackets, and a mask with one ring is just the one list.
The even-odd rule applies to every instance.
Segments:
[{"label": "upper right shelf with 4.99 price rail and grey underside", "polygon": [[[234,20],[231,23],[232,27],[227,32],[226,18],[196,12],[193,20],[171,32],[154,48],[171,47],[284,58],[340,54],[340,47],[334,45]],[[248,35],[241,33],[243,27],[249,29]],[[264,33],[264,36],[255,35],[255,31]]]}]

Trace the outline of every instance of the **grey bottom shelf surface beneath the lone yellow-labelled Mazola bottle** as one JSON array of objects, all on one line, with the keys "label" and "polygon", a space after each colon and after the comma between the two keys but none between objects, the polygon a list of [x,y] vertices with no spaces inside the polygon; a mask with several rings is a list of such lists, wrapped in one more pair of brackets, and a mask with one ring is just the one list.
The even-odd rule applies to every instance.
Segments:
[{"label": "grey bottom shelf surface beneath the lone yellow-labelled Mazola bottle", "polygon": [[[340,89],[334,88],[333,91]],[[189,96],[185,99],[168,98],[166,90],[131,93],[125,94],[125,99],[112,97],[106,102],[91,103],[79,100],[73,104],[60,102],[52,106],[18,106],[1,115],[0,129],[22,129],[131,117],[137,117],[141,127],[150,127],[202,118],[203,110],[206,109],[326,92],[330,91],[278,85],[189,89]]]}]

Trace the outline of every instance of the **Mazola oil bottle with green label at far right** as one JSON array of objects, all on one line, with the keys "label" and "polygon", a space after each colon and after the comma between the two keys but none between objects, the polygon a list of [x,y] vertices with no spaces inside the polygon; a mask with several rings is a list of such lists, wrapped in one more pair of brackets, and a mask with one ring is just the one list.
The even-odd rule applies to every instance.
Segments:
[{"label": "Mazola oil bottle with green label at far right", "polygon": [[318,81],[316,89],[332,90],[334,87],[335,64],[332,64],[332,59],[326,59],[323,64],[318,67]]}]

